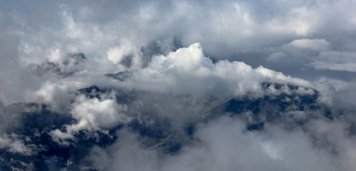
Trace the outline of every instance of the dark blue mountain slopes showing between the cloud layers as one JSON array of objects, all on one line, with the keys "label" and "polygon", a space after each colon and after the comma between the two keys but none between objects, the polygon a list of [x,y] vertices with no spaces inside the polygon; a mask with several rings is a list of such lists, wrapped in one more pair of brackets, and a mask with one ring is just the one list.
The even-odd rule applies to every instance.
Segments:
[{"label": "dark blue mountain slopes showing between the cloud layers", "polygon": [[[125,79],[125,74],[109,75],[117,79]],[[105,170],[91,165],[87,160],[90,149],[94,146],[108,147],[119,137],[117,130],[127,128],[142,137],[142,145],[174,155],[192,141],[197,125],[209,123],[221,116],[239,118],[246,123],[246,131],[263,131],[266,124],[280,124],[288,129],[303,128],[311,118],[334,120],[342,118],[349,124],[350,133],[356,133],[355,123],[347,121],[347,113],[355,111],[351,107],[333,109],[328,105],[318,103],[320,93],[313,88],[303,88],[292,84],[266,82],[261,84],[262,95],[246,94],[225,100],[211,100],[204,104],[199,115],[184,120],[181,131],[174,127],[172,120],[157,115],[162,108],[152,105],[154,98],[147,100],[142,97],[155,97],[151,93],[137,90],[118,90],[115,88],[99,88],[90,86],[78,90],[77,95],[85,95],[89,99],[101,100],[103,95],[115,94],[115,103],[127,105],[127,113],[132,118],[128,123],[119,123],[106,130],[80,130],[74,133],[74,138],[66,140],[68,144],[56,142],[51,131],[66,131],[66,125],[78,123],[70,113],[56,113],[51,106],[37,103],[14,103],[1,108],[1,119],[9,120],[9,115],[16,118],[17,125],[6,123],[2,125],[8,137],[14,142],[20,141],[31,152],[14,152],[10,146],[0,148],[1,170]],[[187,97],[175,98],[189,99]],[[161,97],[162,98],[162,97]],[[164,98],[172,98],[168,95]],[[179,101],[177,100],[177,101]],[[139,105],[137,105],[140,102]],[[180,102],[179,102],[180,103]],[[155,104],[155,103],[153,103]],[[174,104],[172,104],[174,105]],[[138,107],[137,107],[138,106]],[[143,106],[143,107],[142,107]],[[145,109],[142,109],[145,108]],[[169,110],[163,110],[167,112]],[[185,138],[184,138],[185,137]],[[1,138],[1,137],[0,137]],[[4,138],[3,138],[4,139]]]}]

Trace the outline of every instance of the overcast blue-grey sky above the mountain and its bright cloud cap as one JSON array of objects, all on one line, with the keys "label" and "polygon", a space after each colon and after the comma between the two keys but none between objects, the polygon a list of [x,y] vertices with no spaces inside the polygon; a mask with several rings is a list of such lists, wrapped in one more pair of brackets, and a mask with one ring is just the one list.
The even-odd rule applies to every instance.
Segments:
[{"label": "overcast blue-grey sky above the mountain and its bright cloud cap", "polygon": [[[44,81],[33,65],[84,53],[96,73],[144,67],[200,43],[204,55],[320,83],[355,103],[354,1],[1,1],[4,104]],[[143,49],[148,54],[142,54]],[[154,48],[152,48],[154,47]],[[154,50],[152,50],[154,49]],[[123,58],[131,56],[125,66]],[[127,60],[126,60],[127,61]],[[96,67],[91,67],[94,65]],[[41,78],[39,78],[41,79]],[[23,85],[26,82],[26,86]]]}]

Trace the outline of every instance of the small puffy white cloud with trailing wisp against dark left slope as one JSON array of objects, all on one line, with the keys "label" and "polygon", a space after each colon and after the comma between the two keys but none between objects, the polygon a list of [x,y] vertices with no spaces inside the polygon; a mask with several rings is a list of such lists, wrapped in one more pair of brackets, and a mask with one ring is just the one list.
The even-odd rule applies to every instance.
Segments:
[{"label": "small puffy white cloud with trailing wisp against dark left slope", "polygon": [[112,95],[99,100],[78,95],[70,110],[76,123],[66,125],[65,133],[58,129],[51,131],[53,140],[66,144],[66,141],[62,142],[62,140],[73,139],[73,135],[80,130],[89,132],[106,130],[130,121],[131,118],[125,115],[127,106],[117,104],[115,98],[110,98],[110,96]]}]

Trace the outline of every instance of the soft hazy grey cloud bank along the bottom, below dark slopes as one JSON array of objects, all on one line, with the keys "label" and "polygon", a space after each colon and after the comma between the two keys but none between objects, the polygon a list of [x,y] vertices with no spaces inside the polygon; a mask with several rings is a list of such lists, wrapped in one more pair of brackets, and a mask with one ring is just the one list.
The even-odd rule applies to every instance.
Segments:
[{"label": "soft hazy grey cloud bank along the bottom, below dark slopes", "polygon": [[[95,147],[90,159],[108,170],[352,170],[352,163],[322,148],[301,130],[266,126],[266,132],[246,132],[239,120],[221,118],[197,130],[194,143],[174,155],[140,145],[127,131],[107,149]],[[337,130],[336,132],[339,133]],[[345,138],[343,139],[345,140]],[[103,162],[105,156],[112,159]],[[137,161],[132,159],[138,159]],[[138,163],[137,163],[138,162]]]}]

